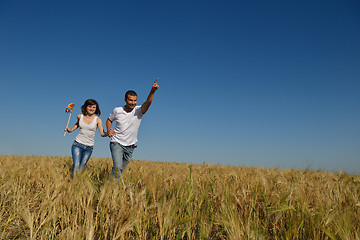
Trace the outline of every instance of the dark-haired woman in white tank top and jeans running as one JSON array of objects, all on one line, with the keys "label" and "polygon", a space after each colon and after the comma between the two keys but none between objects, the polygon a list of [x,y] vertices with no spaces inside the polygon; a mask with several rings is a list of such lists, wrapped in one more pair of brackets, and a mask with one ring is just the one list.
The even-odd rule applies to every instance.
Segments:
[{"label": "dark-haired woman in white tank top and jeans running", "polygon": [[[99,133],[102,137],[108,136],[104,132],[101,119],[98,117],[101,114],[99,104],[94,99],[88,99],[84,105],[81,106],[82,114],[77,115],[77,122],[70,129],[65,127],[65,132],[71,133],[80,127],[79,133],[71,147],[71,154],[73,158],[72,173],[75,176],[76,172],[83,171],[88,162],[94,146],[94,138],[96,128],[99,128]],[[97,116],[96,116],[97,115]]]}]

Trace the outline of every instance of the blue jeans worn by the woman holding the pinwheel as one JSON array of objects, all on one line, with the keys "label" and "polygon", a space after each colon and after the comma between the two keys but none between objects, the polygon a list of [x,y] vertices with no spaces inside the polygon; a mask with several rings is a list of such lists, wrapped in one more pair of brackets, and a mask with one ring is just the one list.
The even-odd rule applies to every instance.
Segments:
[{"label": "blue jeans worn by the woman holding the pinwheel", "polygon": [[77,141],[74,141],[71,147],[71,155],[74,162],[72,173],[74,176],[77,172],[84,170],[86,163],[89,161],[92,151],[92,146],[85,146],[81,143],[78,143]]}]

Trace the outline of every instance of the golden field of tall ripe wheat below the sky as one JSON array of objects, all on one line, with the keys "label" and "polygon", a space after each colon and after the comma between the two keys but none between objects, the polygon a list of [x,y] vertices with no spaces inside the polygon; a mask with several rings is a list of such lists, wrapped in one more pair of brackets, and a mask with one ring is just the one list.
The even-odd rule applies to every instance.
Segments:
[{"label": "golden field of tall ripe wheat below the sky", "polygon": [[360,177],[0,156],[1,239],[360,239]]}]

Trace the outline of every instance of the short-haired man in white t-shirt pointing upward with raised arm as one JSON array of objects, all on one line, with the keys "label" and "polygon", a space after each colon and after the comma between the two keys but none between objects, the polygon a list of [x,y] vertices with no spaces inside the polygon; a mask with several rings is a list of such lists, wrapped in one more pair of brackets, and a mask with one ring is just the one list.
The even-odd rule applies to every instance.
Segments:
[{"label": "short-haired man in white t-shirt pointing upward with raised arm", "polygon": [[[110,151],[113,159],[112,174],[119,178],[125,167],[131,160],[134,149],[136,148],[137,134],[139,131],[141,118],[149,110],[154,99],[156,90],[159,85],[152,85],[149,96],[141,105],[136,105],[137,94],[130,90],[125,94],[125,103],[123,107],[117,107],[106,120],[106,128],[111,137]],[[115,130],[111,129],[112,123],[115,121]]]}]

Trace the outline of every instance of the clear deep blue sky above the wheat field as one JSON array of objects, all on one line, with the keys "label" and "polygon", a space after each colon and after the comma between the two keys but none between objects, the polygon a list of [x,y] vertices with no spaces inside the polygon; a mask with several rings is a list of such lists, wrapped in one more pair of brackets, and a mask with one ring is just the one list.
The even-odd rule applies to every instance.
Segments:
[{"label": "clear deep blue sky above the wheat field", "polygon": [[158,77],[134,159],[360,173],[359,43],[358,1],[3,0],[0,154],[70,156],[69,103]]}]

